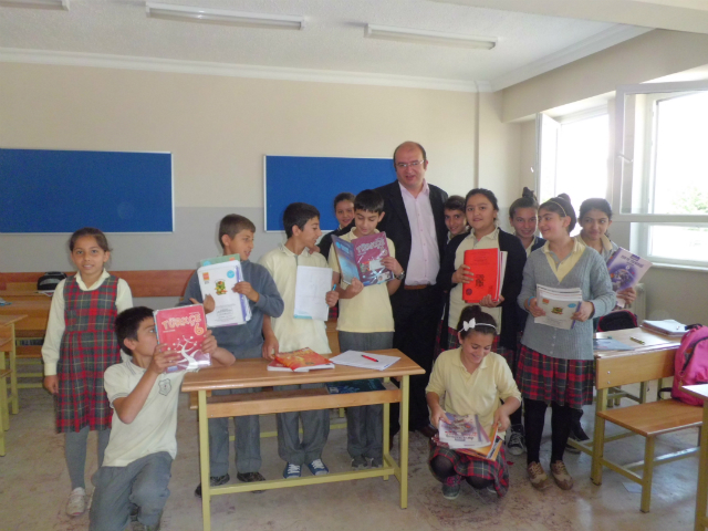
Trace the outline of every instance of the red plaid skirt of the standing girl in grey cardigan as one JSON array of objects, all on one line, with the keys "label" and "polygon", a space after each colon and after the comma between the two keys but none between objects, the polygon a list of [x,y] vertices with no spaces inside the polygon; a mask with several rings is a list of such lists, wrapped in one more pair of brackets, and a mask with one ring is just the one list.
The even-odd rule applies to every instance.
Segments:
[{"label": "red plaid skirt of the standing girl in grey cardigan", "polygon": [[593,402],[594,384],[593,360],[560,360],[521,345],[517,385],[524,398],[582,409]]}]

